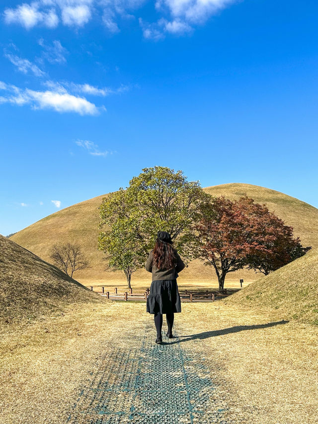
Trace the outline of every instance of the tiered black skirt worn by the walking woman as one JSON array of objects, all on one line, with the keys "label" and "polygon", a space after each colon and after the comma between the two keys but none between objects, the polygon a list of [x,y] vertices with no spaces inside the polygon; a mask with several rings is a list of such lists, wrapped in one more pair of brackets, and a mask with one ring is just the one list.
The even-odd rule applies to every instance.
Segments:
[{"label": "tiered black skirt worn by the walking woman", "polygon": [[155,280],[151,283],[147,299],[147,312],[150,314],[181,312],[181,301],[176,279]]}]

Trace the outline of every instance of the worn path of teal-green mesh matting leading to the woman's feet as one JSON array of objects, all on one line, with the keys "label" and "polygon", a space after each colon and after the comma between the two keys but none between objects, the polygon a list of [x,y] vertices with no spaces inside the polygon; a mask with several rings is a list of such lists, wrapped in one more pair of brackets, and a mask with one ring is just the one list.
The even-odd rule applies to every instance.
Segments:
[{"label": "worn path of teal-green mesh matting leading to the woman's feet", "polygon": [[[182,337],[154,344],[152,320],[119,335],[100,358],[98,371],[79,394],[69,424],[228,424],[227,405],[215,395],[202,341]],[[123,332],[125,333],[125,332]],[[182,341],[184,339],[184,341]]]}]

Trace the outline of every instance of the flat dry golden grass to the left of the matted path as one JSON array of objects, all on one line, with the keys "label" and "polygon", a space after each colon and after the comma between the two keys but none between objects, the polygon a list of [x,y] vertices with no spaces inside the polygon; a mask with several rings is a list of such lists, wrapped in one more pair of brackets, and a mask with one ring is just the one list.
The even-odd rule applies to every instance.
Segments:
[{"label": "flat dry golden grass to the left of the matted path", "polygon": [[0,423],[65,423],[97,356],[125,329],[119,305],[78,303],[29,325],[2,327]]}]

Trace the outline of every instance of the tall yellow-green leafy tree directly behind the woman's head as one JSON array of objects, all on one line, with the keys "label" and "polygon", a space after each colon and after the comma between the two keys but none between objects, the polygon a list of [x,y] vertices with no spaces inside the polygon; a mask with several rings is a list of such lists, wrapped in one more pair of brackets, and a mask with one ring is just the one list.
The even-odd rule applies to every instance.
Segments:
[{"label": "tall yellow-green leafy tree directly behind the woman's head", "polygon": [[114,268],[129,273],[144,266],[158,231],[167,231],[187,263],[195,254],[193,224],[208,198],[199,181],[187,181],[181,170],[144,168],[126,190],[121,187],[103,198],[99,228],[106,229],[99,234],[98,249],[109,255]]}]

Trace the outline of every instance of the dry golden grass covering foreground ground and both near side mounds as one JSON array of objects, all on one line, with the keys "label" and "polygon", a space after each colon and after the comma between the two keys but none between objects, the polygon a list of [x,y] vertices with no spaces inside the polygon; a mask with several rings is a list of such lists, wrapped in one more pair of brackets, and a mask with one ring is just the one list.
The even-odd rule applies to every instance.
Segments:
[{"label": "dry golden grass covering foreground ground and both near side mounds", "polygon": [[[103,352],[130,349],[153,316],[145,303],[105,301],[3,237],[0,249],[0,424],[65,423],[90,373],[105,366]],[[318,422],[318,326],[303,322],[318,309],[317,259],[312,251],[226,301],[183,303],[176,315],[181,346],[197,341],[230,420]]]}]

